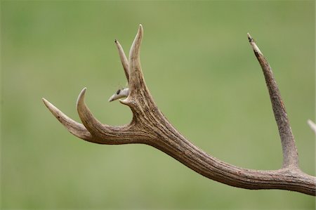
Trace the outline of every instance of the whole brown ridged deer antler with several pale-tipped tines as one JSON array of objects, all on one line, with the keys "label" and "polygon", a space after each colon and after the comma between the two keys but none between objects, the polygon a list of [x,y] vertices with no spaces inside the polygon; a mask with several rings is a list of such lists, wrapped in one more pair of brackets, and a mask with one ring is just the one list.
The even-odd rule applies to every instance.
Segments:
[{"label": "whole brown ridged deer antler with several pale-tipped tines", "polygon": [[89,142],[109,145],[143,143],[162,150],[197,173],[220,183],[253,190],[292,190],[315,196],[316,177],[303,173],[298,167],[294,136],[270,65],[249,34],[248,38],[263,69],[281,137],[283,165],[278,170],[242,169],[222,162],[193,145],[168,122],[154,103],[140,67],[140,44],[143,39],[141,25],[131,46],[128,60],[116,41],[121,63],[129,81],[128,93],[124,95],[127,98],[119,101],[128,105],[133,112],[130,124],[124,126],[101,124],[84,103],[86,88],[81,91],[77,100],[77,111],[82,124],[67,117],[44,98],[43,100],[48,110],[70,133]]}]

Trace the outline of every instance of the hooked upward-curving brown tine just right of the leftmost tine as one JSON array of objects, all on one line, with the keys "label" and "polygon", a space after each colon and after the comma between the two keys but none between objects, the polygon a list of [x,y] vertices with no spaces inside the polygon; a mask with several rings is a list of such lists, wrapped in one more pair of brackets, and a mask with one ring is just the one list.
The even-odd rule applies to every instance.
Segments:
[{"label": "hooked upward-curving brown tine just right of the leftmost tine", "polygon": [[84,102],[85,95],[86,88],[82,89],[78,96],[77,111],[81,122],[92,136],[98,139],[98,143],[111,145],[133,143],[133,139],[130,139],[130,136],[124,136],[124,132],[129,131],[130,126],[108,126],[106,124],[101,124],[86,106],[86,103]]}]

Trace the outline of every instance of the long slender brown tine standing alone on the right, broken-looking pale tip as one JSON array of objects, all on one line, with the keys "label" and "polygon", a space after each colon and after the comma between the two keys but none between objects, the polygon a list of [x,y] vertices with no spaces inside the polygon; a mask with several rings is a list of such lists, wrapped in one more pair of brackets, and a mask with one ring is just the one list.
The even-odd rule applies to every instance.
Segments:
[{"label": "long slender brown tine standing alone on the right, broken-looking pale tip", "polygon": [[265,76],[265,83],[267,84],[269,90],[272,110],[275,114],[275,121],[277,122],[279,136],[282,143],[283,168],[289,166],[298,168],[298,153],[295,145],[294,136],[291,131],[289,119],[287,117],[287,111],[285,110],[281,94],[279,93],[279,88],[277,87],[277,83],[275,81],[275,78],[273,77],[272,69],[268,61],[263,56],[263,53],[261,53],[260,49],[256,45],[254,39],[252,39],[249,33],[247,35],[251,47],[254,50],[254,54],[256,55],[256,58],[261,65],[263,74]]}]

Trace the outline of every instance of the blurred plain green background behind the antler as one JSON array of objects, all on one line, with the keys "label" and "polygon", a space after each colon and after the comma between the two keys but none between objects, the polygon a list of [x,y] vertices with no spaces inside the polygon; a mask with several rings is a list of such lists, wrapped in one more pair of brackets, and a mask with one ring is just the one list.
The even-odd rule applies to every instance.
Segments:
[{"label": "blurred plain green background behind the antler", "polygon": [[144,27],[148,88],[169,121],[230,164],[279,169],[282,152],[249,32],[272,66],[315,176],[315,1],[1,1],[2,209],[315,209],[315,197],[211,181],[147,145],[75,138],[41,101],[79,121],[86,102],[103,123],[129,123],[107,99],[126,85],[126,53]]}]

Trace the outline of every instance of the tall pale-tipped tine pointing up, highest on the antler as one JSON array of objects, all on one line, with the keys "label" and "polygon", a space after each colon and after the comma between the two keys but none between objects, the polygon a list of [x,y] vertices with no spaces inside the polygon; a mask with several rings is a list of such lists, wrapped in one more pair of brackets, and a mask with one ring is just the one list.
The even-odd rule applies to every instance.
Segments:
[{"label": "tall pale-tipped tine pointing up, highest on the antler", "polygon": [[138,32],[129,51],[129,89],[131,96],[135,94],[136,88],[138,88],[138,90],[147,90],[140,66],[140,44],[142,39],[143,26],[139,25]]}]

